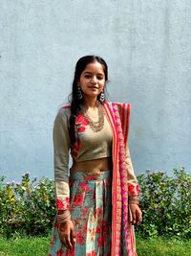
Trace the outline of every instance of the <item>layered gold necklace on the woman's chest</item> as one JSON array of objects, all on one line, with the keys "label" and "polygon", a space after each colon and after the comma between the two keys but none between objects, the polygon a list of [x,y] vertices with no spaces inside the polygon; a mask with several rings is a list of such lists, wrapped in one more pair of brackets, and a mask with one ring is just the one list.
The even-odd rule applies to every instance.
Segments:
[{"label": "layered gold necklace on the woman's chest", "polygon": [[98,104],[98,121],[93,121],[91,119],[91,117],[88,115],[87,112],[85,112],[84,107],[82,107],[82,113],[83,116],[86,118],[86,120],[88,121],[90,127],[94,130],[94,131],[100,131],[103,126],[104,126],[104,112],[103,112],[103,108],[100,104]]}]

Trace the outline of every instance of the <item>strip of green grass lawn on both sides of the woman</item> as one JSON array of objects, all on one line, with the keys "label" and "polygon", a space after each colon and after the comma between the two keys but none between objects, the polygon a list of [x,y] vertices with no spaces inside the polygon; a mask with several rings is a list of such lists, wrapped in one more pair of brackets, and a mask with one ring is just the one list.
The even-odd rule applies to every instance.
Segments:
[{"label": "strip of green grass lawn on both sides of the woman", "polygon": [[[0,238],[0,256],[44,256],[48,255],[49,238]],[[137,239],[138,256],[190,256],[191,241],[165,241]],[[83,256],[83,255],[82,255]]]}]

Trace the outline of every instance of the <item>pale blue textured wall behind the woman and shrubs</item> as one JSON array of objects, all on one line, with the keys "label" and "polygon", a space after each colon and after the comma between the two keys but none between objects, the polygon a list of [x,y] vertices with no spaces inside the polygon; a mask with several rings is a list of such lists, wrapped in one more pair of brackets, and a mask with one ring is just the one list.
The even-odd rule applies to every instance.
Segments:
[{"label": "pale blue textured wall behind the woman and shrubs", "polygon": [[53,176],[53,119],[88,54],[132,104],[136,171],[190,170],[190,17],[190,0],[0,0],[0,174]]}]

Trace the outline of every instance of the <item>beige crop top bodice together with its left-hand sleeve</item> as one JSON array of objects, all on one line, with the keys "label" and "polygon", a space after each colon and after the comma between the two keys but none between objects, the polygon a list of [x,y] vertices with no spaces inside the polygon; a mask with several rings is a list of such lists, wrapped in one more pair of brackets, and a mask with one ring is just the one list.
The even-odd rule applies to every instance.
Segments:
[{"label": "beige crop top bodice together with its left-hand sleeve", "polygon": [[69,136],[70,105],[59,109],[53,124],[54,181],[57,209],[67,208],[69,200],[69,152],[76,162],[112,155],[112,128],[104,114],[104,127],[95,132],[79,114],[76,118],[77,139],[71,149]]}]

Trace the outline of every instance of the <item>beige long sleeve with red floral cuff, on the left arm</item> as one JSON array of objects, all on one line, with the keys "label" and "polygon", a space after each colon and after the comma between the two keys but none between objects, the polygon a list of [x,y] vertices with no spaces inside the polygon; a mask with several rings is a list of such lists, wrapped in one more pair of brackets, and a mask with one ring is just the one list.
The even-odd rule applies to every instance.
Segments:
[{"label": "beige long sleeve with red floral cuff, on the left arm", "polygon": [[60,109],[53,124],[54,182],[57,210],[68,210],[69,189],[69,151],[70,137],[68,117]]}]

